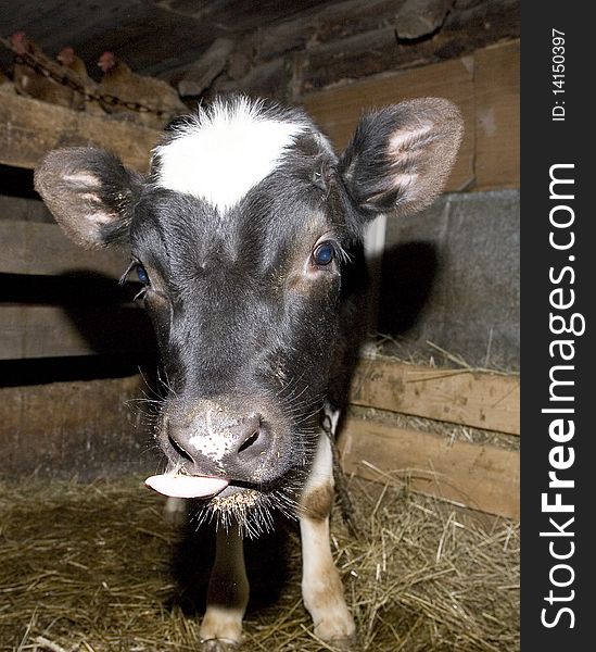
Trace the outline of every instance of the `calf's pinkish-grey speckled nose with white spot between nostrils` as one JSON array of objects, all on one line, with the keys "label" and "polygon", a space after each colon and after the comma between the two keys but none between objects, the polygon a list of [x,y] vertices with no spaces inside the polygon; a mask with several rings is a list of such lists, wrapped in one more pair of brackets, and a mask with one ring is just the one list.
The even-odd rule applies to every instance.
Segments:
[{"label": "calf's pinkish-grey speckled nose with white spot between nostrils", "polygon": [[271,454],[274,435],[259,413],[231,415],[205,410],[167,426],[169,446],[195,475],[254,482]]}]

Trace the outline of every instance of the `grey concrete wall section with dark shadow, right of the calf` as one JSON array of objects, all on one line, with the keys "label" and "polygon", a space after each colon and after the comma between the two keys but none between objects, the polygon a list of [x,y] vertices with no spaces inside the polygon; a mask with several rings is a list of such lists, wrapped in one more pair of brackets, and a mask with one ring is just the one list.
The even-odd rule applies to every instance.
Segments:
[{"label": "grey concrete wall section with dark shadow, right of the calf", "polygon": [[[519,190],[449,193],[389,220],[378,330],[402,356],[519,369]],[[439,358],[441,358],[439,355]]]}]

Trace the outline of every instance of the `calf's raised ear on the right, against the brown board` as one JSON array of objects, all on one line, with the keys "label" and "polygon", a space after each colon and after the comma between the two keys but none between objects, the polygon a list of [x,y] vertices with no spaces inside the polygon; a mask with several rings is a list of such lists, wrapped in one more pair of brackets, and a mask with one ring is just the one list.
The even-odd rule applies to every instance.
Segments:
[{"label": "calf's raised ear on the right, against the brown board", "polygon": [[366,113],[343,153],[339,171],[367,215],[407,215],[441,192],[464,134],[455,104],[422,98]]}]

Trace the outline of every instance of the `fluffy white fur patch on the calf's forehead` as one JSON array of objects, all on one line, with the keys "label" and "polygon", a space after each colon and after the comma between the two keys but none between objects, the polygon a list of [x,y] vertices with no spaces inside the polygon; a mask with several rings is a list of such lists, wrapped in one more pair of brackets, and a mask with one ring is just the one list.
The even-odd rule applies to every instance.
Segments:
[{"label": "fluffy white fur patch on the calf's forehead", "polygon": [[241,97],[201,110],[153,150],[157,185],[208,201],[220,212],[237,204],[279,164],[304,124],[268,114]]}]

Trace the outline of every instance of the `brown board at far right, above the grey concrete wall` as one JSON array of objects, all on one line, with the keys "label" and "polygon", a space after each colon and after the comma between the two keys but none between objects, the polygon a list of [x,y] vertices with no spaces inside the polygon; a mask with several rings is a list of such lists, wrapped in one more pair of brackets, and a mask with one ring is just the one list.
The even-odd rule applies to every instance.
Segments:
[{"label": "brown board at far right, above the grey concrete wall", "polygon": [[475,177],[479,188],[520,185],[519,41],[475,53]]}]

